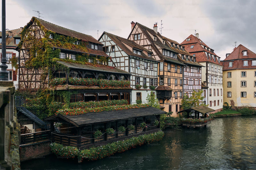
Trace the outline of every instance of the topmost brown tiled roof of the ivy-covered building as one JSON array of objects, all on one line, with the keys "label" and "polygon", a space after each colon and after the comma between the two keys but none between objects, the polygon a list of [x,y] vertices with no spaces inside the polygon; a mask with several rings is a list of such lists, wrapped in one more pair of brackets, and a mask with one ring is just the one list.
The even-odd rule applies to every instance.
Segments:
[{"label": "topmost brown tiled roof of the ivy-covered building", "polygon": [[[32,19],[33,18],[36,18],[36,17],[32,17]],[[64,28],[62,26],[58,26],[58,25],[52,24],[50,22],[44,21],[44,20],[39,19],[39,18],[36,18],[36,19],[38,21],[40,21],[40,23],[47,30],[51,30],[51,31],[53,31],[55,33],[59,33],[59,34],[62,34],[62,35],[67,35],[67,36],[70,36],[70,37],[75,37],[75,38],[79,38],[79,39],[82,39],[82,40],[85,40],[85,41],[90,41],[90,42],[94,42],[94,43],[103,45],[102,43],[100,43],[100,41],[96,40],[91,35],[86,35],[84,33],[79,33],[79,32],[76,32],[74,30],[70,30],[68,28]]]}]

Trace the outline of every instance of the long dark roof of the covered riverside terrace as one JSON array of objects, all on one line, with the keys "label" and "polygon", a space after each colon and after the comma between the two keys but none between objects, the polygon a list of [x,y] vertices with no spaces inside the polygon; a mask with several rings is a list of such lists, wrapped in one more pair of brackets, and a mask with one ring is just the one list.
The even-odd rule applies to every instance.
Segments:
[{"label": "long dark roof of the covered riverside terrace", "polygon": [[75,126],[84,126],[87,124],[100,123],[100,122],[111,122],[121,119],[128,119],[133,117],[142,117],[150,115],[160,115],[166,112],[155,107],[142,107],[137,109],[127,110],[111,110],[103,112],[89,112],[83,115],[53,115],[46,120],[51,120],[56,117],[60,117]]}]

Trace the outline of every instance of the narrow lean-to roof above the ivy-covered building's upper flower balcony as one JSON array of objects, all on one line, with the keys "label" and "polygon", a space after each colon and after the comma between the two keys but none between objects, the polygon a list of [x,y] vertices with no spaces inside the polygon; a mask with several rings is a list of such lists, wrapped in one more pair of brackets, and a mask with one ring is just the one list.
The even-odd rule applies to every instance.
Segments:
[{"label": "narrow lean-to roof above the ivy-covered building's upper flower balcony", "polygon": [[110,73],[121,73],[121,74],[130,74],[124,70],[111,67],[108,65],[102,65],[102,64],[78,64],[78,63],[66,63],[62,61],[57,61],[60,64],[63,64],[66,67],[73,68],[73,69],[82,69],[82,70],[95,70],[95,71],[103,71],[103,72],[110,72]]}]

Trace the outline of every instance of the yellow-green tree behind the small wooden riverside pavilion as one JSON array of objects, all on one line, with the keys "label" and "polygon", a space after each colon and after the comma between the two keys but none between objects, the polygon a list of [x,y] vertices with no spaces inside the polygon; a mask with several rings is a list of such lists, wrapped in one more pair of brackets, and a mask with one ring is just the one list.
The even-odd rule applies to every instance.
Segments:
[{"label": "yellow-green tree behind the small wooden riverside pavilion", "polygon": [[181,107],[183,109],[187,109],[190,107],[197,107],[197,106],[208,106],[204,104],[203,99],[204,96],[203,90],[200,90],[196,92],[195,90],[192,92],[192,95],[188,97],[187,95],[184,95],[183,99],[181,100]]}]

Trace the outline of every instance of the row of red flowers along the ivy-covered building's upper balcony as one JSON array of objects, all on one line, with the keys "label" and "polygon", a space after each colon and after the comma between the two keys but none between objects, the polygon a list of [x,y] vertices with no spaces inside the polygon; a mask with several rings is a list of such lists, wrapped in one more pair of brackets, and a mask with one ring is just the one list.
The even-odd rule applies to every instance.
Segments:
[{"label": "row of red flowers along the ivy-covered building's upper balcony", "polygon": [[99,87],[130,87],[131,83],[128,80],[105,80],[94,78],[68,78],[71,85],[86,85]]}]

